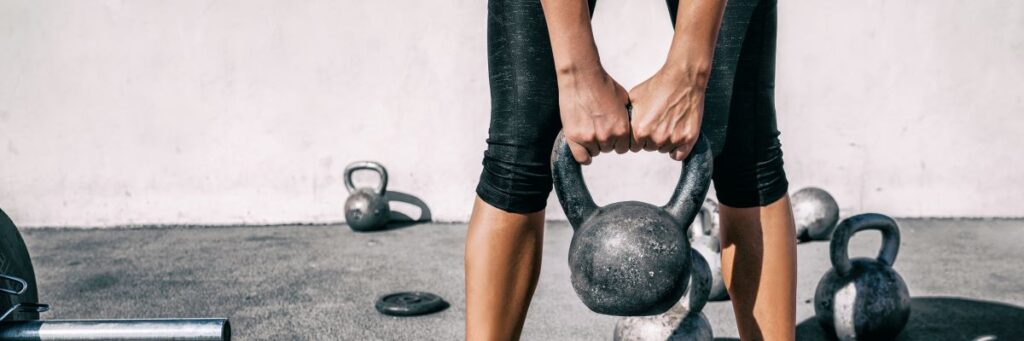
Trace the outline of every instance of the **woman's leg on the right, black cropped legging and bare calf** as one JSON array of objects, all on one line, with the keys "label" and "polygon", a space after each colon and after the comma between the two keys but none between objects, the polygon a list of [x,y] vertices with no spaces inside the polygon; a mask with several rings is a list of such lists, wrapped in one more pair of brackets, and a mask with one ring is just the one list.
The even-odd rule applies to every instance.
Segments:
[{"label": "woman's leg on the right, black cropped legging and bare calf", "polygon": [[775,123],[775,0],[728,2],[705,104],[703,133],[717,152],[722,274],[742,340],[796,337],[797,247]]}]

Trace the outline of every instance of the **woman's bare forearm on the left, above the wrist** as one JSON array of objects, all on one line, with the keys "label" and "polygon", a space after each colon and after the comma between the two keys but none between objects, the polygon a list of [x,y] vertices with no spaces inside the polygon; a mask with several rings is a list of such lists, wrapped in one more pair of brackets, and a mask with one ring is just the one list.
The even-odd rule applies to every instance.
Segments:
[{"label": "woman's bare forearm on the left, above the wrist", "polygon": [[559,82],[582,71],[600,70],[586,0],[542,0]]}]

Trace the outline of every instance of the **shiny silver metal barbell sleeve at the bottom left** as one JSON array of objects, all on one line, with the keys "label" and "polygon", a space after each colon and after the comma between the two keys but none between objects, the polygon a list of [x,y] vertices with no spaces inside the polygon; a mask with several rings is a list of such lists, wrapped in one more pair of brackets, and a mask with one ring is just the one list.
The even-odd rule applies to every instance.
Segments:
[{"label": "shiny silver metal barbell sleeve at the bottom left", "polygon": [[0,323],[0,340],[8,341],[230,339],[231,327],[224,318],[36,319]]}]

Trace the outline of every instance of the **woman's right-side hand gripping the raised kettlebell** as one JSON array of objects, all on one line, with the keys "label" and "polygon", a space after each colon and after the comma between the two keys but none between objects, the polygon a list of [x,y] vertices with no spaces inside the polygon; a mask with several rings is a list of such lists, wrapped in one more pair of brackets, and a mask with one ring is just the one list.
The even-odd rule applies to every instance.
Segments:
[{"label": "woman's right-side hand gripping the raised kettlebell", "polygon": [[676,161],[690,154],[700,135],[710,68],[666,66],[630,90],[633,152],[670,153]]}]

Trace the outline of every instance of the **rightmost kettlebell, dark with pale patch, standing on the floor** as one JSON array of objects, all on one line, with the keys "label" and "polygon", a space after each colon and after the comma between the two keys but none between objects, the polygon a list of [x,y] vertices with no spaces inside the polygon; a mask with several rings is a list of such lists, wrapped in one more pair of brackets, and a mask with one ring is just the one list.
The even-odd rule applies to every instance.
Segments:
[{"label": "rightmost kettlebell, dark with pale patch, standing on the floor", "polygon": [[[850,237],[865,229],[882,231],[879,256],[850,260]],[[821,327],[840,340],[896,338],[910,317],[910,293],[892,268],[899,252],[896,221],[877,213],[847,218],[836,227],[829,251],[833,268],[814,293]]]}]

